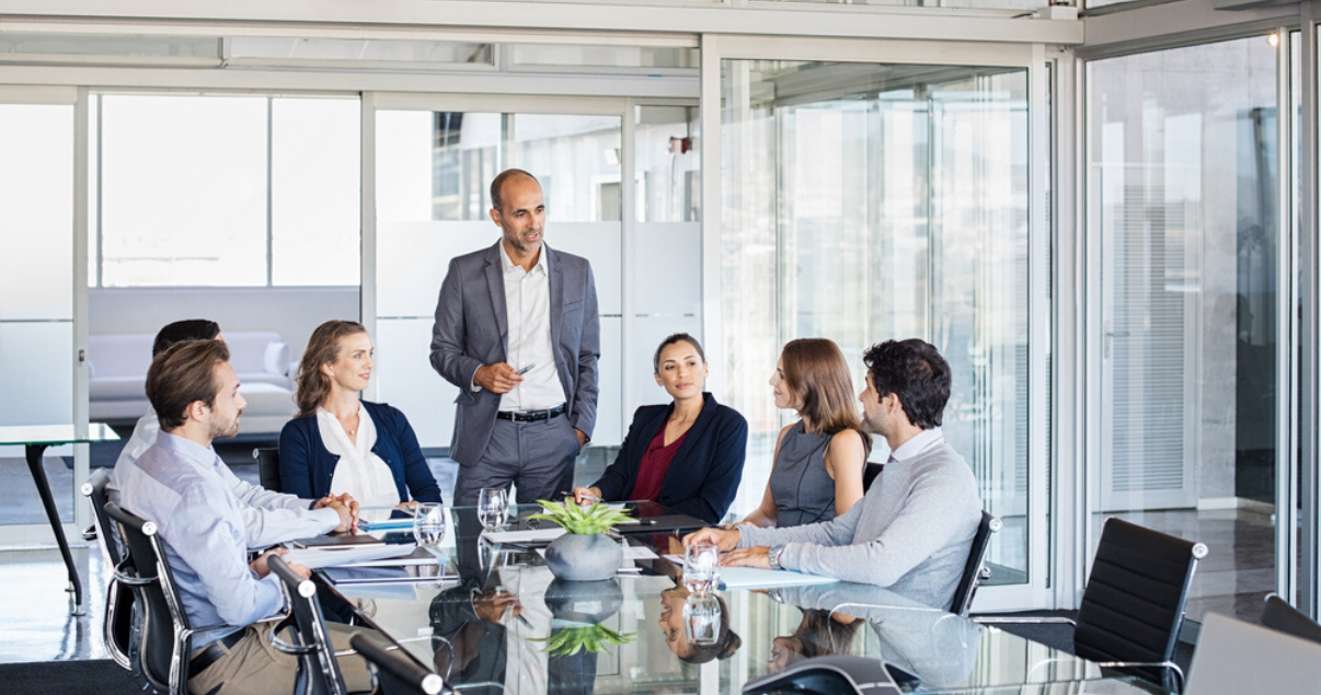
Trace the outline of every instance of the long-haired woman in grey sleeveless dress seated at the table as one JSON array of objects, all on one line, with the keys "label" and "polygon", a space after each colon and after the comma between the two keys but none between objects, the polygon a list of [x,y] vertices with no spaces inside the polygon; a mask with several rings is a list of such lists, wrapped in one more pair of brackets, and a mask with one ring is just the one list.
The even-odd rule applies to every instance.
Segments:
[{"label": "long-haired woman in grey sleeveless dress seated at the table", "polygon": [[872,439],[863,433],[844,353],[824,338],[791,340],[770,385],[775,406],[802,419],[779,431],[766,493],[740,524],[801,526],[848,512],[863,499]]}]

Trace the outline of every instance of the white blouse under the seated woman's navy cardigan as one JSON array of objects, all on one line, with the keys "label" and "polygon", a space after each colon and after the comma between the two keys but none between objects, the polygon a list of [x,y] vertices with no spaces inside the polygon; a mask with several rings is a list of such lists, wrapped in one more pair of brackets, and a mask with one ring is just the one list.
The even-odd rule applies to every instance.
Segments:
[{"label": "white blouse under the seated woman's navy cardigan", "polygon": [[361,506],[394,506],[402,501],[390,466],[371,452],[376,446],[376,425],[361,402],[355,442],[349,439],[339,418],[324,408],[317,409],[317,429],[326,451],[339,456],[330,477],[330,495],[347,492]]}]

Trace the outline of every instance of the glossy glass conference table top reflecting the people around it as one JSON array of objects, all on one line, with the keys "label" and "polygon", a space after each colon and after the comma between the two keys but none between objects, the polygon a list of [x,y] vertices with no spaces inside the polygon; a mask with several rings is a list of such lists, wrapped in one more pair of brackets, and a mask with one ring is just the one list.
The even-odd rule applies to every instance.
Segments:
[{"label": "glossy glass conference table top reflecting the people around it", "polygon": [[[638,568],[604,583],[560,582],[535,549],[490,543],[473,509],[452,512],[441,562],[374,568],[376,574],[324,570],[321,580],[358,621],[464,692],[736,694],[752,679],[822,654],[884,659],[906,691],[1165,692],[1140,679],[1112,678],[1085,659],[1008,632],[851,583],[716,592],[715,644],[695,645],[684,629],[684,604],[711,601],[694,600],[670,560],[626,560]],[[520,520],[532,512],[511,509],[511,526],[526,526]],[[682,553],[682,533],[625,539],[659,554]],[[563,653],[610,633],[626,644]]]}]

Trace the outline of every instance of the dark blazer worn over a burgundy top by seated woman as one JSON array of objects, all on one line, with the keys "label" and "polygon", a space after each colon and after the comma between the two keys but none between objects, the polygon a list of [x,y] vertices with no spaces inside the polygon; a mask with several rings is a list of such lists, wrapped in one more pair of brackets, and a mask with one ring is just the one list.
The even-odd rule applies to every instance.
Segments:
[{"label": "dark blazer worn over a burgundy top by seated woman", "polygon": [[[729,510],[742,477],[748,454],[748,421],[737,410],[716,402],[703,393],[701,413],[688,430],[688,438],[670,463],[660,485],[658,502],[719,524]],[[645,405],[633,414],[633,425],[624,438],[620,455],[592,487],[606,501],[626,500],[638,481],[642,455],[664,426],[674,404]]]}]

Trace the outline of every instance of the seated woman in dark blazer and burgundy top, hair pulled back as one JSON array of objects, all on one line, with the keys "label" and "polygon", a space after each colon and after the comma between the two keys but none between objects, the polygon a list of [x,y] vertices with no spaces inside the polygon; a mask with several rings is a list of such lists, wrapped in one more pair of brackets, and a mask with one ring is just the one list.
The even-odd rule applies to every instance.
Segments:
[{"label": "seated woman in dark blazer and burgundy top, hair pulled back", "polygon": [[674,402],[639,408],[614,463],[573,496],[579,504],[651,500],[719,524],[742,477],[748,421],[703,390],[707,356],[691,335],[666,338],[653,367]]}]

